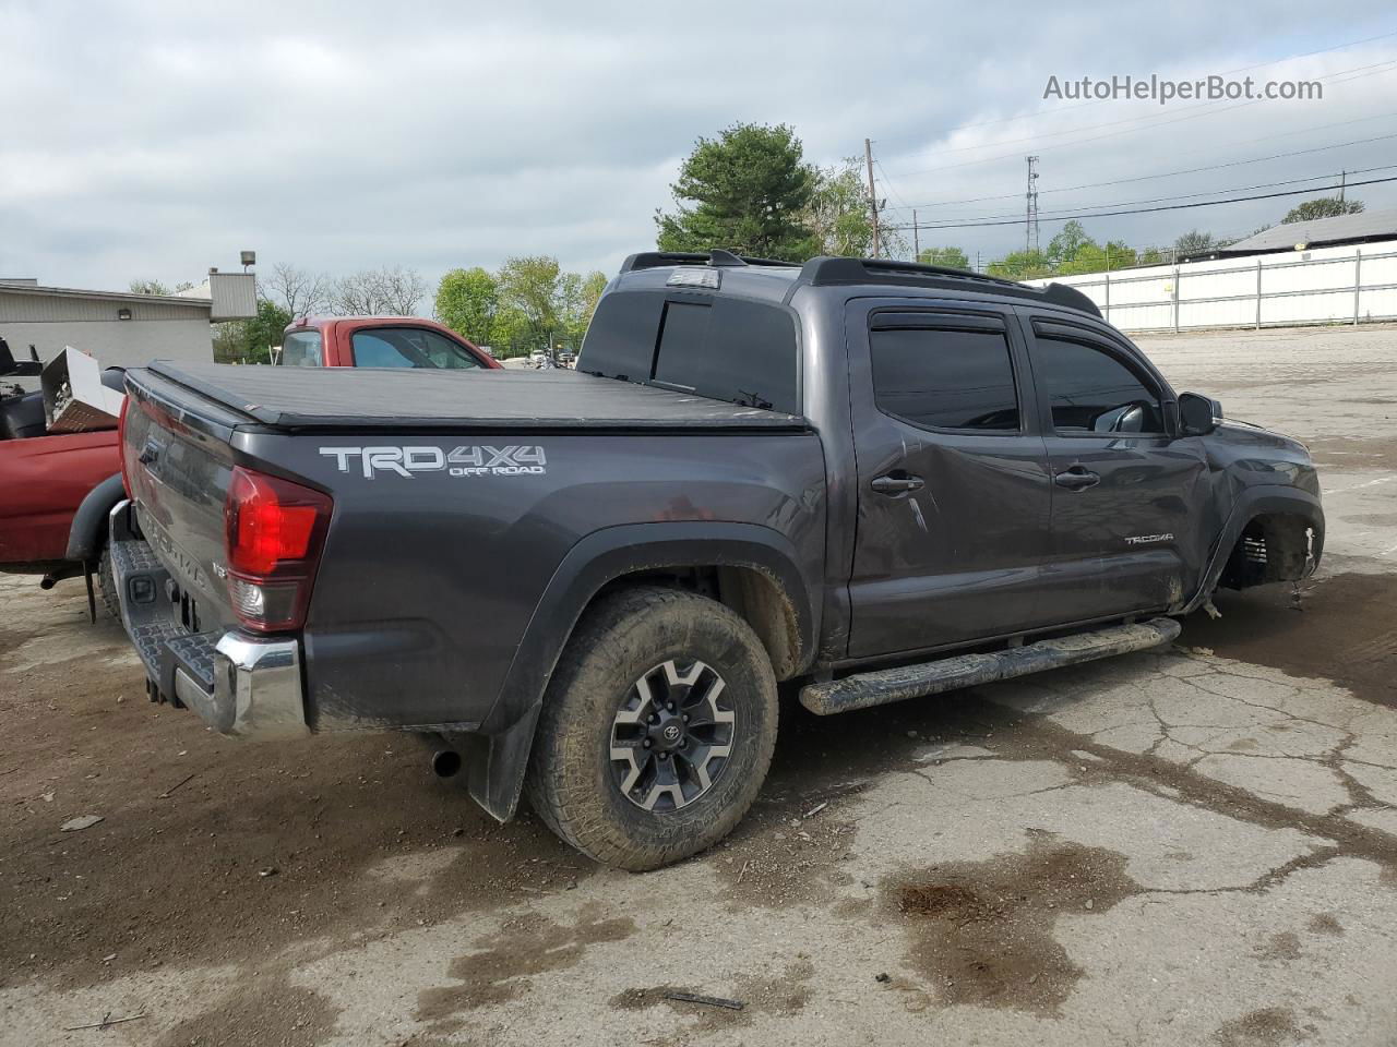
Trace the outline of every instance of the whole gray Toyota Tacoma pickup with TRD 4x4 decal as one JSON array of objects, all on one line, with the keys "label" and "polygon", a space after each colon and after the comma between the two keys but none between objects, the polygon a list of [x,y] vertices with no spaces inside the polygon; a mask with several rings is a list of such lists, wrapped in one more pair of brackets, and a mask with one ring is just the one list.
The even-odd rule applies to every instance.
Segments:
[{"label": "whole gray Toyota Tacoma pickup with TRD 4x4 decal", "polygon": [[1324,535],[1299,443],[1176,394],[1078,292],[629,258],[577,371],[155,363],[112,514],[151,697],[429,736],[641,870],[721,839],[787,683],[828,715],[1166,644]]}]

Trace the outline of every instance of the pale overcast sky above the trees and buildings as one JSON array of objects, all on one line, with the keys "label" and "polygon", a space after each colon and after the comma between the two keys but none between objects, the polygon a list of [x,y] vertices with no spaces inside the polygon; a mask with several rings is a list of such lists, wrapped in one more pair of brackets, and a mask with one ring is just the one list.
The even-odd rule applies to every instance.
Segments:
[{"label": "pale overcast sky above the trees and buildings", "polygon": [[[1397,165],[1390,0],[0,0],[0,276],[63,286],[197,281],[244,247],[261,269],[401,264],[433,283],[511,254],[609,274],[654,246],[693,141],[739,120],[792,124],[820,163],[872,138],[891,222],[1020,215],[1028,152],[1045,215]],[[1236,75],[1322,78],[1323,101],[1044,99],[1049,75],[1253,66]],[[1323,151],[1144,177],[1306,149]],[[1101,181],[1119,184],[1071,190]],[[1394,187],[1351,194],[1397,207]],[[1084,225],[1137,246],[1241,235],[1302,198]],[[1045,246],[1060,226],[1044,219]],[[1023,242],[1023,223],[922,235],[972,260]]]}]

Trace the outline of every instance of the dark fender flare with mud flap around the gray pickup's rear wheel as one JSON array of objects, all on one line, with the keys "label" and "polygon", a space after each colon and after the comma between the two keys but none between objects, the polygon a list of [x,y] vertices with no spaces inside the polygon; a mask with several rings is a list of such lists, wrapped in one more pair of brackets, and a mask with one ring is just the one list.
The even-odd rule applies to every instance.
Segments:
[{"label": "dark fender flare with mud flap around the gray pickup's rear wheel", "polygon": [[666,567],[746,567],[767,574],[791,602],[799,667],[814,658],[819,621],[812,584],[795,546],[759,524],[658,522],[595,530],[557,565],[529,618],[479,734],[453,738],[465,751],[471,796],[495,818],[514,815],[524,790],[534,727],[553,669],[583,611],[601,589],[627,574]]}]

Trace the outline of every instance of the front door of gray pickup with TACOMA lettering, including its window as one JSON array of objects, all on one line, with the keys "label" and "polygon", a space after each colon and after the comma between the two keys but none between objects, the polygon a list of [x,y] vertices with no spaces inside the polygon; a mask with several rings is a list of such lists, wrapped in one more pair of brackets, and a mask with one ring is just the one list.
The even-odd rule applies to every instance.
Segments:
[{"label": "front door of gray pickup with TACOMA lettering, including its window", "polygon": [[1204,461],[1168,431],[1173,392],[1125,339],[1025,321],[1052,472],[1044,599],[1062,623],[1178,602]]}]

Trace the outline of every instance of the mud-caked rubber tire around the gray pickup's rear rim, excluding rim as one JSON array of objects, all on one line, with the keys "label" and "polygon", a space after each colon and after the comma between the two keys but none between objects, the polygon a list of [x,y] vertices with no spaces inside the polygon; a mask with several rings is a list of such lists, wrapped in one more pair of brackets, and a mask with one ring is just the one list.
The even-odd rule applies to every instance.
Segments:
[{"label": "mud-caked rubber tire around the gray pickup's rear rim, excluding rim", "polygon": [[[732,754],[696,800],[647,811],[613,779],[612,727],[636,681],[669,659],[703,660],[722,677],[735,715]],[[553,832],[597,861],[658,868],[732,831],[761,789],[775,738],[775,676],[746,621],[682,589],[623,589],[588,609],[559,659],[529,758],[528,799]]]}]

